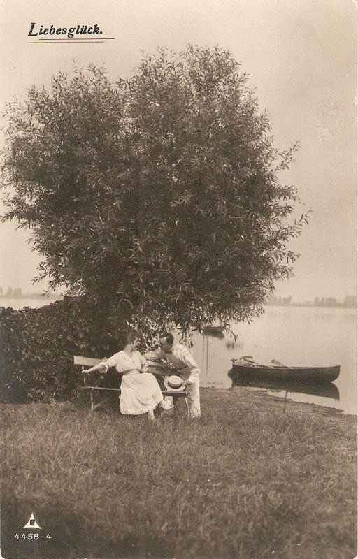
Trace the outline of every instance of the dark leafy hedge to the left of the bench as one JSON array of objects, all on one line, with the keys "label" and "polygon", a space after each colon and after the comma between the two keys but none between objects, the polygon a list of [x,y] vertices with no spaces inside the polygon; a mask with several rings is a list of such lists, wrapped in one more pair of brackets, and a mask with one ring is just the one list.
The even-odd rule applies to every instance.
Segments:
[{"label": "dark leafy hedge to the left of the bench", "polygon": [[0,325],[5,402],[71,398],[80,382],[73,355],[101,358],[118,351],[118,335],[83,298],[65,298],[38,309],[0,307]]}]

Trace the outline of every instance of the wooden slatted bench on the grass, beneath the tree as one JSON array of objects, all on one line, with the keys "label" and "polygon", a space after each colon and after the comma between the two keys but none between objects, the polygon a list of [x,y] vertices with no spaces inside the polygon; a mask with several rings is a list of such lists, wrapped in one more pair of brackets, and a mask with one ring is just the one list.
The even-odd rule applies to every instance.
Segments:
[{"label": "wooden slatted bench on the grass, beneath the tree", "polygon": [[[98,363],[101,363],[101,361],[103,361],[103,359],[96,359],[94,357],[83,357],[79,355],[73,356],[73,363],[75,365],[81,366],[82,368],[91,368],[94,365],[98,365]],[[106,384],[108,384],[108,386],[98,386],[96,384],[88,384],[88,382],[90,381],[90,374],[87,373],[85,369],[83,369],[82,372],[83,386],[80,386],[80,389],[90,392],[91,412],[94,412],[95,409],[103,406],[104,404],[106,404],[106,402],[113,400],[113,398],[118,398],[120,396],[120,380],[122,379],[122,375],[119,375],[117,372],[114,373],[111,370],[106,373],[99,373],[98,371],[94,372],[93,378],[96,378],[96,382],[98,382],[99,379],[106,378]],[[156,377],[162,378],[176,374],[176,370],[166,369],[164,367],[157,368],[152,366],[149,367],[148,372],[151,372],[152,375],[155,375]],[[161,383],[159,382],[159,384]],[[99,400],[99,402],[94,403],[94,395],[96,393],[98,393],[99,395],[106,395],[106,398],[102,398],[101,400]],[[174,412],[177,412],[178,402],[180,398],[186,398],[188,392],[185,390],[182,390],[180,392],[172,392],[164,389],[162,390],[162,394],[163,396],[171,396],[173,398]]]}]

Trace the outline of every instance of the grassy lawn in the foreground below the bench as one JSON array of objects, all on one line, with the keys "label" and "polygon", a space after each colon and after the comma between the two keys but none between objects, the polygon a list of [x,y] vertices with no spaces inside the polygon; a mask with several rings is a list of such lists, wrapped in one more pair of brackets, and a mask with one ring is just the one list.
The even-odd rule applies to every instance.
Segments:
[{"label": "grassy lawn in the foreground below the bench", "polygon": [[[2,556],[353,558],[356,419],[282,409],[215,389],[192,421],[3,405]],[[31,512],[52,539],[15,539]]]}]

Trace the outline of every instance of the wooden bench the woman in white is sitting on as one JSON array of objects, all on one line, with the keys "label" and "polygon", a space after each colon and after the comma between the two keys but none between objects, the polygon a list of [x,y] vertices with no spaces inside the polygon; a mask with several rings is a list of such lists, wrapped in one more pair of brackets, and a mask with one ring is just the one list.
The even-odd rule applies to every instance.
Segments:
[{"label": "wooden bench the woman in white is sitting on", "polygon": [[[84,367],[88,367],[91,368],[94,365],[98,365],[98,363],[101,363],[101,361],[103,361],[103,359],[96,359],[93,357],[83,357],[83,356],[79,356],[79,355],[75,355],[73,356],[73,363],[75,365],[79,365],[82,368]],[[148,368],[148,372],[151,372],[152,375],[158,376],[158,377],[169,377],[170,375],[175,375],[176,374],[176,370],[175,369],[169,369],[164,367],[164,365],[158,365],[158,366],[149,366]],[[94,372],[94,375],[96,375],[97,378],[103,378],[104,375],[106,375],[106,373],[99,373]],[[120,387],[116,386],[92,386],[90,384],[87,384],[88,381],[88,376],[89,374],[83,370],[83,386],[80,387],[81,390],[85,390],[85,391],[89,391],[90,392],[90,398],[91,398],[91,412],[94,412],[95,409],[98,409],[99,407],[103,406],[104,404],[106,404],[106,402],[109,402],[110,400],[113,400],[113,398],[118,398],[118,396],[120,396]],[[118,373],[116,373],[116,377],[117,379],[121,378],[121,375],[119,375]],[[96,404],[94,403],[94,394],[98,392],[98,393],[107,393],[106,398],[103,398],[102,400],[100,400],[99,402],[97,402]],[[110,395],[108,396],[108,393],[110,393]],[[187,398],[187,395],[189,394],[186,390],[182,390],[180,392],[172,392],[169,390],[162,390],[162,394],[163,396],[171,396],[173,398],[173,404],[174,404],[174,413],[178,411],[178,402],[180,400],[180,398]]]}]

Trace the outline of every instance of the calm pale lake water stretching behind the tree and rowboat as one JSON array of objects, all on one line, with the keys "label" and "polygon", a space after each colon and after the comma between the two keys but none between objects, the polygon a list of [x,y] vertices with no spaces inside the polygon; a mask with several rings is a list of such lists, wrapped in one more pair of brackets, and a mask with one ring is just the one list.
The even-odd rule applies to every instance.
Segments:
[{"label": "calm pale lake water stretching behind the tree and rowboat", "polygon": [[[0,306],[20,309],[52,303],[46,299],[0,298]],[[260,363],[277,359],[290,366],[341,365],[330,396],[289,391],[287,398],[357,414],[357,312],[320,307],[266,307],[251,324],[236,324],[234,339],[194,335],[193,354],[201,368],[201,386],[230,388],[231,359],[250,355]],[[240,390],[241,387],[236,387]],[[252,388],[245,388],[250,390]],[[338,389],[338,390],[337,390]],[[285,398],[285,391],[262,389]],[[283,405],[283,403],[282,403]],[[289,405],[289,403],[287,404]]]}]

